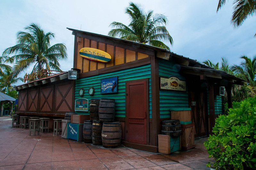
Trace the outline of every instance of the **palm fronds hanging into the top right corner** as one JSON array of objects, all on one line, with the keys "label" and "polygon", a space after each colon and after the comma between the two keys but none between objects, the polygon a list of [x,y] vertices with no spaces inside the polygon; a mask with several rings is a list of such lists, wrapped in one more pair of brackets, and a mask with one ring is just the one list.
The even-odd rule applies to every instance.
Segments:
[{"label": "palm fronds hanging into the top right corner", "polygon": [[[219,0],[217,12],[225,3],[226,0]],[[256,14],[255,0],[234,0],[233,5],[235,6],[233,7],[231,23],[234,27],[241,26],[249,16]],[[254,36],[256,36],[256,34]]]}]

